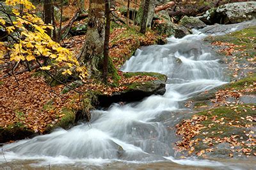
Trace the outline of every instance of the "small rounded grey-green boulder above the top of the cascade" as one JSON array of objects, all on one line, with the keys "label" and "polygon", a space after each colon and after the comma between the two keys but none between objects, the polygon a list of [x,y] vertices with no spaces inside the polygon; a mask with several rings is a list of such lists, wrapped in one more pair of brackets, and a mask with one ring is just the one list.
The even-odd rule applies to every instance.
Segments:
[{"label": "small rounded grey-green boulder above the top of the cascade", "polygon": [[206,24],[204,24],[202,20],[196,17],[188,17],[188,16],[184,16],[183,18],[181,18],[179,24],[183,25],[188,29],[201,29],[203,27],[206,27]]}]

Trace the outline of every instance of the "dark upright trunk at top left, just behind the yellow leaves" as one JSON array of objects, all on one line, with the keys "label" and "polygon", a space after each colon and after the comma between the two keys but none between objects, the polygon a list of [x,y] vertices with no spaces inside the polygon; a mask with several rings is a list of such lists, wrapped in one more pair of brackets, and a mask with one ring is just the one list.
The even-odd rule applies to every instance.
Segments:
[{"label": "dark upright trunk at top left, just behind the yellow leaves", "polygon": [[[52,24],[52,0],[44,0],[44,22]],[[51,29],[47,29],[47,34],[51,36]]]}]

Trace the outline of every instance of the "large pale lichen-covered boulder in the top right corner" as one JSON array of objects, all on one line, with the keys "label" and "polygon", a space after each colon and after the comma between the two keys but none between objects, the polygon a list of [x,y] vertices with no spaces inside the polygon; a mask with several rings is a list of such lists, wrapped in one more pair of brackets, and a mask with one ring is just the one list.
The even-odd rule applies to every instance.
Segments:
[{"label": "large pale lichen-covered boulder in the top right corner", "polygon": [[234,24],[256,17],[256,2],[230,3],[217,8],[220,24]]}]

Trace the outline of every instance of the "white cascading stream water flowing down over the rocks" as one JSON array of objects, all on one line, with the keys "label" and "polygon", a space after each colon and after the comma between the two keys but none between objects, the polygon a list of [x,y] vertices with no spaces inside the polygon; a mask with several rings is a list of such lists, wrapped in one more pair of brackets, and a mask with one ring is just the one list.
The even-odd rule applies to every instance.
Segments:
[{"label": "white cascading stream water flowing down over the rocks", "polygon": [[[179,103],[225,83],[218,57],[195,31],[166,45],[143,47],[122,71],[150,71],[168,76],[166,93],[141,102],[112,104],[92,112],[91,124],[57,129],[4,145],[0,167],[8,169],[168,168],[243,169],[251,163],[230,160],[176,159],[175,124],[191,110]],[[245,160],[244,160],[245,161]],[[253,167],[253,164],[252,164]]]}]

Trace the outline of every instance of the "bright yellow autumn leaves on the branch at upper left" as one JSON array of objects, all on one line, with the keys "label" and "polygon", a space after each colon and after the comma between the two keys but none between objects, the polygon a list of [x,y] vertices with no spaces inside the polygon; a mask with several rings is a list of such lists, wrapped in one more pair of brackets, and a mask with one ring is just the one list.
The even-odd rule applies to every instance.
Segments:
[{"label": "bright yellow autumn leaves on the branch at upper left", "polygon": [[[76,57],[59,43],[52,41],[51,37],[46,34],[46,29],[54,29],[52,25],[44,24],[44,21],[29,13],[34,10],[35,6],[29,0],[6,0],[5,3],[12,7],[12,15],[15,16],[12,24],[4,26],[8,34],[17,32],[19,34],[18,43],[13,43],[12,48],[8,48],[10,60],[36,60],[37,57],[47,57],[55,60],[57,66],[67,66],[63,74],[72,74],[71,69],[80,73],[80,78],[86,78],[86,68],[80,66]],[[15,6],[22,4],[23,11],[20,12]],[[5,25],[6,21],[0,18],[0,24]],[[19,31],[18,31],[19,30]],[[1,43],[1,42],[0,42]],[[0,52],[0,62],[4,59],[4,52]],[[42,70],[50,70],[51,66],[41,67]]]}]

